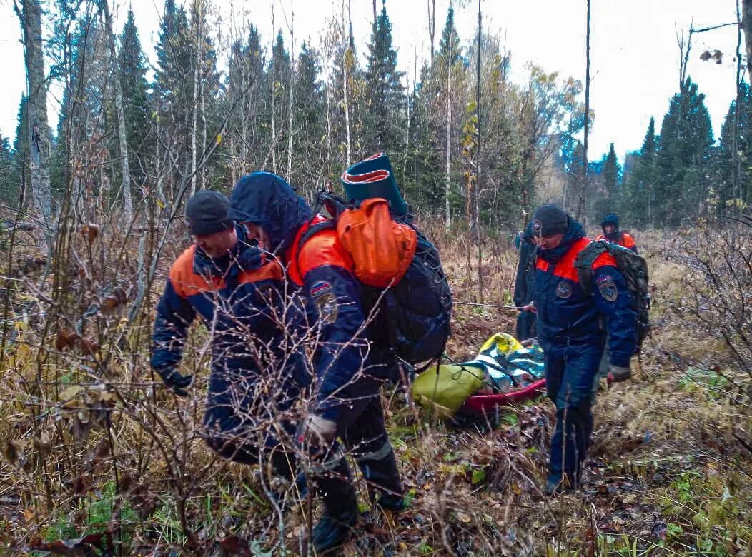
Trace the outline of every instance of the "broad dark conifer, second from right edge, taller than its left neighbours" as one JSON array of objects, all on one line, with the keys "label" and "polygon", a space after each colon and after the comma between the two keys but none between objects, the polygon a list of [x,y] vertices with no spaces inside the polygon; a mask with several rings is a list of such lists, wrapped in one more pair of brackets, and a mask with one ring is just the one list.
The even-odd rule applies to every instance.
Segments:
[{"label": "broad dark conifer, second from right edge, taller than its left neighbours", "polygon": [[700,216],[708,193],[714,144],[705,95],[687,78],[663,117],[657,150],[657,226],[679,226]]}]

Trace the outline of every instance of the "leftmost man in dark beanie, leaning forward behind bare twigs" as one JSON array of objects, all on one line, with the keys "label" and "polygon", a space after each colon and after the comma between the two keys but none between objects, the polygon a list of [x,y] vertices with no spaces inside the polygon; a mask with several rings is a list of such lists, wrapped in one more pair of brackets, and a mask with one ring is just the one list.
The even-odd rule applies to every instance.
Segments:
[{"label": "leftmost man in dark beanie, leaning forward behind bare twigs", "polygon": [[[193,376],[177,367],[188,329],[199,316],[211,333],[208,445],[244,464],[268,458],[277,474],[292,479],[290,456],[277,450],[273,435],[257,431],[259,423],[289,408],[306,383],[302,354],[284,341],[290,323],[280,324],[277,317],[286,313],[278,307],[284,301],[279,295],[284,271],[278,262],[264,262],[262,250],[230,219],[229,200],[220,192],[193,195],[186,218],[195,243],[172,265],[157,304],[152,368],[177,395],[187,394]],[[294,434],[292,424],[283,425]]]}]

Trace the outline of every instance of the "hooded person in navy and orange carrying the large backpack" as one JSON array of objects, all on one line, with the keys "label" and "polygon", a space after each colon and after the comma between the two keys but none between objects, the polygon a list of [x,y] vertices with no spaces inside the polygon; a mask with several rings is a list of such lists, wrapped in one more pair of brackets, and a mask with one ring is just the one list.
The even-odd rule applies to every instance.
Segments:
[{"label": "hooded person in navy and orange carrying the large backpack", "polygon": [[[322,472],[312,479],[323,495],[323,518],[314,526],[317,552],[339,545],[357,522],[356,494],[341,437],[383,508],[402,508],[402,483],[381,408],[380,386],[387,377],[378,331],[367,324],[367,301],[353,274],[353,261],[335,229],[302,241],[323,220],[282,178],[254,172],[238,180],[231,195],[232,216],[287,266],[305,299],[307,327],[317,331],[313,368],[314,401],[299,425],[298,441],[317,453]],[[378,498],[378,499],[377,499]]]}]

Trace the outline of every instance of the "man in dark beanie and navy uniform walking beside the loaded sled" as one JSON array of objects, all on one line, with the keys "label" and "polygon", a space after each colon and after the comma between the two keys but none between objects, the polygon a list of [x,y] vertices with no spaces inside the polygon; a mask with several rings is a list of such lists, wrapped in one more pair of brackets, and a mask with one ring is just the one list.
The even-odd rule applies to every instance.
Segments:
[{"label": "man in dark beanie and navy uniform walking beside the loaded sled", "polygon": [[[538,243],[533,304],[538,341],[544,350],[548,397],[556,404],[546,493],[577,488],[593,431],[591,391],[605,348],[615,381],[630,377],[635,353],[634,301],[616,260],[602,253],[593,262],[590,294],[581,285],[575,259],[590,239],[579,222],[556,205],[535,210]],[[602,321],[605,321],[605,330]]]}]

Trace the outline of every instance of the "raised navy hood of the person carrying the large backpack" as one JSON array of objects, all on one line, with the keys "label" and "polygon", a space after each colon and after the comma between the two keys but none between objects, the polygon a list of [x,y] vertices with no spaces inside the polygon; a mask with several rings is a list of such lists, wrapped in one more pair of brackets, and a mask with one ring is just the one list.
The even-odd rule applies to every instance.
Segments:
[{"label": "raised navy hood of the person carrying the large backpack", "polygon": [[271,172],[246,174],[230,195],[230,216],[238,222],[253,222],[269,238],[268,250],[283,253],[293,243],[302,224],[313,211],[289,183]]}]

